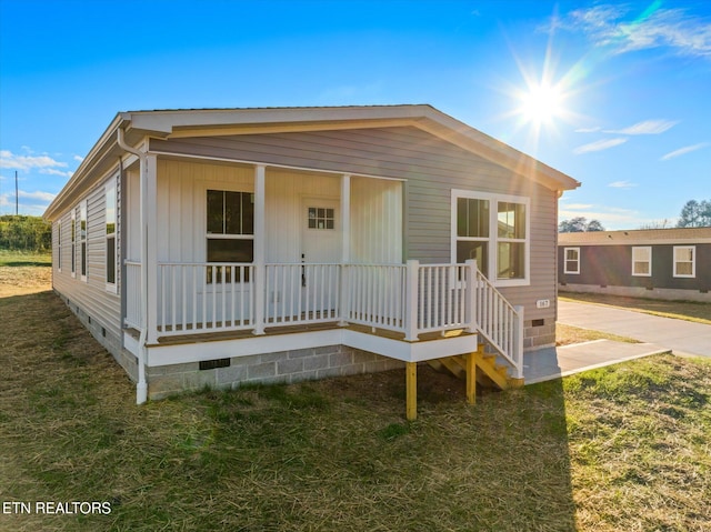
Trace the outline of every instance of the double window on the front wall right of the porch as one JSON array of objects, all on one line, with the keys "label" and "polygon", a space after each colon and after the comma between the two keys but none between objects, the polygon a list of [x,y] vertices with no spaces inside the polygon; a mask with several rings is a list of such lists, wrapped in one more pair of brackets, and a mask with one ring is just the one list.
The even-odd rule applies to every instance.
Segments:
[{"label": "double window on the front wall right of the porch", "polygon": [[529,282],[529,199],[469,191],[452,192],[452,255],[477,260],[498,284]]}]

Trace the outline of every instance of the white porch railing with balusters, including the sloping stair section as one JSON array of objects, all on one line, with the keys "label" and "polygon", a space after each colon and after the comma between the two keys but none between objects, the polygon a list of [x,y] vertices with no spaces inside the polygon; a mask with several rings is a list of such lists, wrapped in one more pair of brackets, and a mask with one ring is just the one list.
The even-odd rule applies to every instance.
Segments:
[{"label": "white porch railing with balusters, including the sloping stair section", "polygon": [[[127,317],[140,328],[140,263],[127,261]],[[467,264],[266,264],[263,315],[257,315],[256,265],[159,263],[158,335],[250,330],[318,322],[357,323],[401,332],[479,332],[523,370],[523,311]]]}]

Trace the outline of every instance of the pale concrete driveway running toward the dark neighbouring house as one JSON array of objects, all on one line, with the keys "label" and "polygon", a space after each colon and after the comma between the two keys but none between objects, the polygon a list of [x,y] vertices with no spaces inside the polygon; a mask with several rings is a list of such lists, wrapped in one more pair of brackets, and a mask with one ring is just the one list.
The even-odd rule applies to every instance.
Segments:
[{"label": "pale concrete driveway running toward the dark neighbouring house", "polygon": [[711,325],[703,323],[560,300],[558,321],[653,343],[674,354],[711,357]]}]

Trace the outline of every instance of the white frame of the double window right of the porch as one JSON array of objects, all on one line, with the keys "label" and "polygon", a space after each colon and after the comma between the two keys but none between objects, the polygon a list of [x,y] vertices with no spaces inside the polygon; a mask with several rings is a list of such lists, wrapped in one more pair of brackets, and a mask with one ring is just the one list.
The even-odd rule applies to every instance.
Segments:
[{"label": "white frame of the double window right of the porch", "polygon": [[[451,242],[450,242],[450,257],[452,263],[457,262],[457,241],[460,239],[457,235],[457,200],[459,198],[467,198],[473,200],[489,200],[489,238],[475,239],[478,241],[485,241],[489,245],[488,251],[488,264],[487,271],[489,281],[494,287],[528,287],[531,284],[531,199],[524,195],[511,195],[511,194],[492,194],[489,192],[477,192],[473,190],[460,190],[452,189],[451,192]],[[507,239],[500,238],[498,231],[498,214],[499,203],[521,203],[525,207],[525,238],[524,239]],[[499,257],[499,243],[512,242],[523,243],[523,268],[525,270],[524,275],[520,279],[498,279],[498,257]],[[478,267],[480,268],[480,267]],[[480,268],[481,269],[481,268]]]}]

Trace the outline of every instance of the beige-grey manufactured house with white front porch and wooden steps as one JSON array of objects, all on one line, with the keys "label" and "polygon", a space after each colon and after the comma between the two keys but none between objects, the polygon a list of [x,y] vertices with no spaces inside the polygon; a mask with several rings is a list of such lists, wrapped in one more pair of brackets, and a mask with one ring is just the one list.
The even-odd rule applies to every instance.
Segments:
[{"label": "beige-grey manufactured house with white front porch and wooden steps", "polygon": [[473,400],[554,341],[578,185],[430,106],[120,112],[44,214],[53,288],[139,403],[404,367],[412,418],[418,362]]}]

